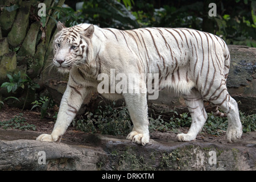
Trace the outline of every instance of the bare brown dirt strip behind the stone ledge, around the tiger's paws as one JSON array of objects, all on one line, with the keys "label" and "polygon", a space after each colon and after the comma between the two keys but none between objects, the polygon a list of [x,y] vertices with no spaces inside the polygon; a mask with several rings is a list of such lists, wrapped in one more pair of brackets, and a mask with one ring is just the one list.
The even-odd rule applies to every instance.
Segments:
[{"label": "bare brown dirt strip behind the stone ledge, around the tiger's paws", "polygon": [[[5,107],[2,110],[0,110],[0,122],[2,121],[9,121],[11,118],[14,118],[15,115],[18,115],[20,113],[23,113],[23,118],[26,119],[26,122],[30,125],[35,125],[36,130],[35,131],[23,131],[22,135],[19,134],[19,136],[15,136],[15,130],[13,129],[7,129],[3,134],[1,135],[0,139],[5,140],[15,140],[15,139],[36,139],[40,134],[50,134],[52,132],[53,126],[55,124],[54,119],[51,117],[46,116],[43,119],[40,119],[40,112],[39,111],[31,111],[31,110],[20,110],[18,108],[13,107]],[[180,128],[178,132],[187,133],[188,127]],[[1,130],[3,133],[3,130]],[[89,144],[89,141],[86,141],[85,137],[86,135],[89,135],[89,133],[84,133],[82,131],[76,130],[75,127],[69,126],[67,132],[63,135],[63,138],[61,139],[61,142],[67,143],[67,144]],[[170,141],[176,141],[176,135],[175,132],[160,132],[155,131],[150,134],[150,138],[153,140],[156,140],[158,142],[170,142]],[[113,136],[112,136],[113,137]],[[125,139],[125,137],[118,136],[117,138]],[[196,140],[198,142],[212,142],[212,143],[218,143],[218,144],[224,144],[226,143],[225,140],[225,133],[221,136],[216,135],[210,135],[206,133],[200,133],[197,135]],[[241,141],[256,141],[256,135],[254,134],[243,134]]]}]

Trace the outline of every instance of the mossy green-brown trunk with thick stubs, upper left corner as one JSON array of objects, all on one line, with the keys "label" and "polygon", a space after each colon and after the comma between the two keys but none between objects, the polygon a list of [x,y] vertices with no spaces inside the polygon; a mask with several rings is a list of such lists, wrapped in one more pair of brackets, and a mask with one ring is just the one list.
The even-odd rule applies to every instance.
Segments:
[{"label": "mossy green-brown trunk with thick stubs, upper left corner", "polygon": [[[53,0],[45,0],[46,7],[61,6],[64,0],[53,3]],[[17,9],[7,10],[4,7],[15,6]],[[22,78],[25,75],[34,79],[40,77],[40,72],[52,51],[52,39],[55,32],[56,11],[47,10],[46,26],[42,26],[38,16],[37,1],[6,0],[0,2],[0,85],[9,81],[7,74],[13,75],[19,71]],[[47,51],[47,50],[51,51]],[[30,88],[28,88],[30,89]],[[35,101],[35,92],[30,92],[32,102]],[[0,98],[15,96],[21,102],[25,102],[27,89],[20,89],[10,95],[6,88],[0,88]],[[25,96],[24,96],[25,95]],[[10,106],[23,107],[21,102],[9,102]],[[31,108],[31,100],[26,103]]]}]

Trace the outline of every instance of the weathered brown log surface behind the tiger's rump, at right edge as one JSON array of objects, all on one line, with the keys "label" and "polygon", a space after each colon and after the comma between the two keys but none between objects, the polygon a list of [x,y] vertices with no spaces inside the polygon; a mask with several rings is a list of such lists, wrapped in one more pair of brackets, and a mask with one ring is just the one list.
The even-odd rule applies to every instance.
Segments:
[{"label": "weathered brown log surface behind the tiger's rump, at right edge", "polygon": [[238,102],[240,110],[256,113],[256,48],[230,45],[229,49],[228,91]]}]

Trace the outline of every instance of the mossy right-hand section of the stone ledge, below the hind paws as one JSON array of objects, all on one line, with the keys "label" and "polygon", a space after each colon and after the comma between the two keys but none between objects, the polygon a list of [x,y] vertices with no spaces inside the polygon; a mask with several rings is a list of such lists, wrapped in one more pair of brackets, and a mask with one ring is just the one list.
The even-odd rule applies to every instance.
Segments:
[{"label": "mossy right-hand section of the stone ledge, below the hind paws", "polygon": [[250,160],[253,150],[241,151],[237,146],[200,142],[170,142],[167,145],[153,142],[147,147],[112,142],[106,146],[108,159],[98,160],[100,170],[234,171],[255,168]]}]

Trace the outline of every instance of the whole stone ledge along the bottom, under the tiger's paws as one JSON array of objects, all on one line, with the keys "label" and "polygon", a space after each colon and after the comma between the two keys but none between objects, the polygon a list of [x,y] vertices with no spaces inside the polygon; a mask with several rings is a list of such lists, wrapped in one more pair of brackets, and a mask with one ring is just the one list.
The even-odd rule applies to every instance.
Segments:
[{"label": "whole stone ledge along the bottom, under the tiger's paws", "polygon": [[146,146],[124,137],[68,133],[61,143],[50,143],[36,141],[35,131],[0,129],[0,170],[256,169],[255,132],[232,144],[222,139],[181,143],[174,134],[156,132]]}]

